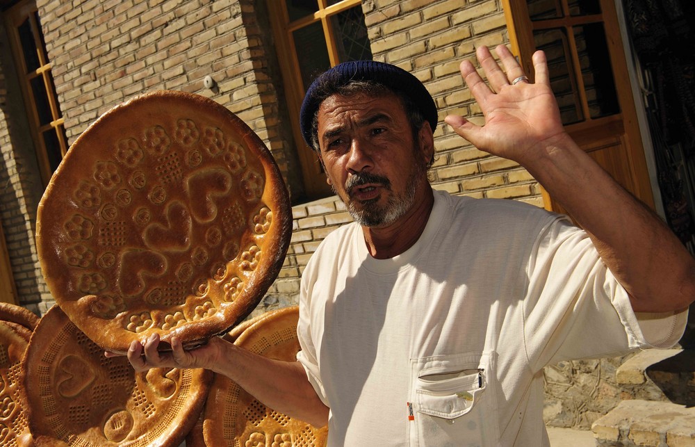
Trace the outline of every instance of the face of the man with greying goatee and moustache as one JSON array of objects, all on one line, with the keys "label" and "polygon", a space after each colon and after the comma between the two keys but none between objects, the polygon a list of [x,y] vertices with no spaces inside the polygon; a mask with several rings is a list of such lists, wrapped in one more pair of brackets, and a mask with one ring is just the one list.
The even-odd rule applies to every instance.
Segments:
[{"label": "face of the man with greying goatee and moustache", "polygon": [[390,225],[421,200],[432,131],[425,125],[414,140],[395,95],[325,99],[318,140],[327,181],[360,225]]}]

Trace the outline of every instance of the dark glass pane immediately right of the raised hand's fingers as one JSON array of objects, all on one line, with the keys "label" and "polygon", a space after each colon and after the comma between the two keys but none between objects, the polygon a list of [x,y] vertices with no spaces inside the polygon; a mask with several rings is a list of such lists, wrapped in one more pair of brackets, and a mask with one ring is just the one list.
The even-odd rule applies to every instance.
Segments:
[{"label": "dark glass pane immediately right of the raised hand's fingers", "polygon": [[548,58],[550,86],[557,98],[562,123],[571,124],[584,120],[564,29],[534,31],[533,38],[536,48],[545,51]]}]

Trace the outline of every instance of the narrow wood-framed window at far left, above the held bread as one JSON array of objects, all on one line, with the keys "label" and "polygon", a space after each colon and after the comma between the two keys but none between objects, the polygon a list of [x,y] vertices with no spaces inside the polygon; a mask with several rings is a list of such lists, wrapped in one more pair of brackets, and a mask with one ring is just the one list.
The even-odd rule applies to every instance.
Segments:
[{"label": "narrow wood-framed window at far left, above the held bread", "polygon": [[6,12],[6,25],[45,186],[68,146],[35,0],[22,1],[10,8]]}]

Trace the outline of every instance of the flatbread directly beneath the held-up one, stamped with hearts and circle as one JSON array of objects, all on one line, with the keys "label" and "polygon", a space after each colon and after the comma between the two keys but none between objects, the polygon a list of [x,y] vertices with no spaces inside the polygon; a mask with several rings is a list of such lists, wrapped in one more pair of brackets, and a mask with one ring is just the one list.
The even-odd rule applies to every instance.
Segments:
[{"label": "flatbread directly beneath the held-up one, stamped with hearts and circle", "polygon": [[37,446],[179,446],[203,409],[213,373],[105,357],[58,306],[34,330],[22,392]]}]

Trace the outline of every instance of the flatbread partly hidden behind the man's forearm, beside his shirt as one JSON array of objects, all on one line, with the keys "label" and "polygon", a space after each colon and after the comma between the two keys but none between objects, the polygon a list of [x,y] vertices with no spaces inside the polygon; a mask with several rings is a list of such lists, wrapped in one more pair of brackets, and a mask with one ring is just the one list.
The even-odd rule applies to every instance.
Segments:
[{"label": "flatbread partly hidden behind the man's forearm, beside his shirt", "polygon": [[[295,361],[299,310],[272,311],[247,327],[234,343],[256,354]],[[215,375],[202,423],[207,446],[325,446],[328,428],[276,412],[223,375]]]}]

